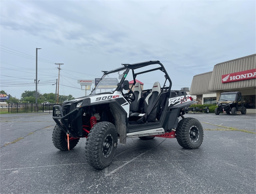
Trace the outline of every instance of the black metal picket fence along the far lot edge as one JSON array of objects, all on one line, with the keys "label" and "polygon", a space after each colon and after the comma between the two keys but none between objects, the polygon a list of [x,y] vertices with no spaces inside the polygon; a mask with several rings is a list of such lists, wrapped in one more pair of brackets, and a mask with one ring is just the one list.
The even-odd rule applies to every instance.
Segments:
[{"label": "black metal picket fence along the far lot edge", "polygon": [[44,104],[44,103],[9,103],[9,113],[52,113],[54,105],[62,104]]}]

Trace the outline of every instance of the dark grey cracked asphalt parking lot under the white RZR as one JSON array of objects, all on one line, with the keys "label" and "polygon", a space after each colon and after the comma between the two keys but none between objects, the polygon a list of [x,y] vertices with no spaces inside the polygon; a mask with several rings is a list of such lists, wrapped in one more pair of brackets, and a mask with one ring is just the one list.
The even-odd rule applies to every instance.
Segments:
[{"label": "dark grey cracked asphalt parking lot under the white RZR", "polygon": [[127,139],[108,168],[95,170],[86,139],[68,152],[54,147],[50,114],[0,115],[0,193],[256,193],[256,115],[184,116],[202,123],[200,148]]}]

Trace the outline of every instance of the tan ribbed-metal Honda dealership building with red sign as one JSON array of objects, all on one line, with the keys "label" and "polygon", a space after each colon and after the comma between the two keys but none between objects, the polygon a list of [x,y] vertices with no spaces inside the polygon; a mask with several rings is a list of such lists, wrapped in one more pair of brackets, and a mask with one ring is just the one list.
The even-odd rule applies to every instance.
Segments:
[{"label": "tan ribbed-metal Honda dealership building with red sign", "polygon": [[216,104],[227,91],[240,91],[247,113],[256,113],[256,54],[218,63],[212,71],[195,75],[190,87],[199,104]]}]

